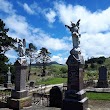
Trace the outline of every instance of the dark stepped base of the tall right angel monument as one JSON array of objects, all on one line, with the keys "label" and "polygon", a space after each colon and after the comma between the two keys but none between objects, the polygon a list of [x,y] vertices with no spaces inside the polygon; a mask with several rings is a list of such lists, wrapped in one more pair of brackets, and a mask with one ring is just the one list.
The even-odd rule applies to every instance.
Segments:
[{"label": "dark stepped base of the tall right angel monument", "polygon": [[87,110],[88,98],[85,96],[85,91],[81,90],[77,93],[75,91],[67,91],[65,99],[63,100],[62,110]]}]

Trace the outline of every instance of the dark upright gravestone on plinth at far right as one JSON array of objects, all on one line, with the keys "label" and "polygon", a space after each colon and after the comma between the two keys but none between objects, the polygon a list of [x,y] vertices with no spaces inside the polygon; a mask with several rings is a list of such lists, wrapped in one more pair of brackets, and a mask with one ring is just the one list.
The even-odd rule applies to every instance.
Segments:
[{"label": "dark upright gravestone on plinth at far right", "polygon": [[99,67],[99,79],[98,79],[97,87],[98,88],[108,87],[107,68],[105,66]]}]

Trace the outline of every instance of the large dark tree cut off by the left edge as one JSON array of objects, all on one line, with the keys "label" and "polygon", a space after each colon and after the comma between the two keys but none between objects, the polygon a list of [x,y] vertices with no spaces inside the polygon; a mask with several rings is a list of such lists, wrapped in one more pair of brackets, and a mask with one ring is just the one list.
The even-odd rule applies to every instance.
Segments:
[{"label": "large dark tree cut off by the left edge", "polygon": [[9,59],[5,56],[5,52],[11,48],[15,49],[14,44],[16,40],[9,37],[7,32],[8,28],[5,28],[5,23],[0,19],[0,76],[3,82],[2,76],[7,73],[8,67],[7,64]]}]

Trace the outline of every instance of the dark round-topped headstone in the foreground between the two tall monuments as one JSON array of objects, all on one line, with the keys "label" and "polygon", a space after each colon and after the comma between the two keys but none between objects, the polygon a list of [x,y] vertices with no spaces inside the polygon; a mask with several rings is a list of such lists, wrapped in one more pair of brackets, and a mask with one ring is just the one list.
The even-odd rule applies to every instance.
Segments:
[{"label": "dark round-topped headstone in the foreground between the two tall monuments", "polygon": [[52,87],[50,90],[50,107],[58,107],[62,106],[62,92],[58,86]]}]

